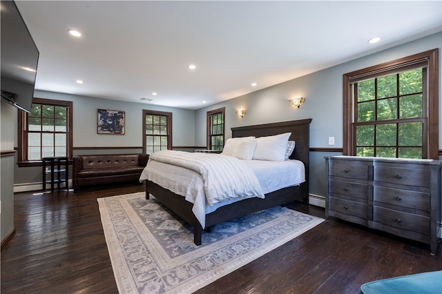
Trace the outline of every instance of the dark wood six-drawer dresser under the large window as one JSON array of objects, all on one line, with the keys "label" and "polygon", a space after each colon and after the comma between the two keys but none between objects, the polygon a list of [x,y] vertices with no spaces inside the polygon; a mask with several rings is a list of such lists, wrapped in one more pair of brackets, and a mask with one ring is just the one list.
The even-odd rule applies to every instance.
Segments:
[{"label": "dark wood six-drawer dresser under the large window", "polygon": [[441,161],[325,158],[325,214],[430,244],[441,222]]}]

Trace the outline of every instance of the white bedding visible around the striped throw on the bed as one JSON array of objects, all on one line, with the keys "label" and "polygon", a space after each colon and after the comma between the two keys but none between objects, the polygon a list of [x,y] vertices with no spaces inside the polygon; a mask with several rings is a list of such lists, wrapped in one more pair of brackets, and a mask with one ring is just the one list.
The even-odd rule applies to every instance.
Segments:
[{"label": "white bedding visible around the striped throw on the bed", "polygon": [[[200,153],[203,156],[208,155]],[[227,156],[227,155],[211,155]],[[239,159],[238,159],[239,160]],[[267,194],[287,186],[296,186],[305,182],[305,167],[301,161],[262,161],[262,160],[240,160],[248,168],[253,170],[262,191]],[[182,166],[165,164],[149,158],[148,165],[144,168],[140,177],[140,182],[148,179],[155,184],[171,190],[177,195],[182,195],[187,201],[193,203],[192,211],[200,222],[202,228],[205,227],[205,215],[215,211],[220,206],[233,202],[255,197],[244,195],[227,199],[227,201],[209,205],[204,193],[204,182],[197,172]]]}]

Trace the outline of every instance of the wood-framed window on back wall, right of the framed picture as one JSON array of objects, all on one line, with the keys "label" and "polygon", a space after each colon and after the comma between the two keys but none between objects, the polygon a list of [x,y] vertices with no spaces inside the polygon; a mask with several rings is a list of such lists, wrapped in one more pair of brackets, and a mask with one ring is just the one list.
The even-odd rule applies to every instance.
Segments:
[{"label": "wood-framed window on back wall, right of the framed picture", "polygon": [[172,112],[143,110],[143,151],[172,149]]}]

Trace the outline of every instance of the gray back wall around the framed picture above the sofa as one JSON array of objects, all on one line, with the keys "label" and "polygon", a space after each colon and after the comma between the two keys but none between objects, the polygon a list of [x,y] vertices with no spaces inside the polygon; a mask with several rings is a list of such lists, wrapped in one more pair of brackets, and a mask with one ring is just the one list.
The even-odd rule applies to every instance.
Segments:
[{"label": "gray back wall around the framed picture above the sofa", "polygon": [[[144,109],[173,113],[172,142],[174,146],[194,146],[195,144],[195,110],[153,106],[151,104],[130,103],[39,90],[35,91],[35,97],[73,101],[74,155],[141,153],[143,138],[142,110]],[[97,109],[99,108],[123,110],[126,112],[125,135],[97,134]],[[15,114],[15,125],[17,129],[17,111]],[[18,146],[17,132],[15,132],[14,146]],[[81,149],[75,150],[75,148],[80,147]],[[88,150],[88,147],[91,149]],[[99,149],[100,147],[103,149]],[[109,149],[115,147],[124,147],[124,149]],[[17,157],[15,157],[15,162],[17,162]],[[32,184],[36,185],[41,182],[40,167],[19,168],[15,165],[14,173],[16,186],[32,186]],[[70,175],[72,175],[72,173],[70,173]]]}]

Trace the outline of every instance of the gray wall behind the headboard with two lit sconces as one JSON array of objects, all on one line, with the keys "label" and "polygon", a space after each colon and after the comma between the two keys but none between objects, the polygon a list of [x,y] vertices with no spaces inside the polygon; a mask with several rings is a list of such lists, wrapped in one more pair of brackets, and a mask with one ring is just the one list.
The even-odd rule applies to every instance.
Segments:
[{"label": "gray wall behind the headboard with two lit sconces", "polygon": [[[434,48],[439,48],[439,55],[441,55],[441,44],[442,32],[439,32],[220,104],[201,108],[195,114],[196,144],[200,146],[206,144],[206,112],[225,107],[227,138],[231,137],[230,128],[232,127],[311,118],[313,119],[310,125],[311,148],[342,148],[343,74]],[[442,125],[441,68],[442,57],[439,56],[439,129]],[[289,99],[300,96],[306,97],[305,103],[300,108],[289,104]],[[235,114],[237,110],[247,110],[246,115],[242,119],[238,118]],[[334,146],[328,145],[328,137],[335,137]],[[439,132],[439,146],[442,146],[441,132]],[[340,153],[310,153],[309,191],[311,194],[325,195],[324,156],[330,155],[340,155]]]}]

